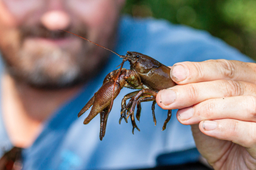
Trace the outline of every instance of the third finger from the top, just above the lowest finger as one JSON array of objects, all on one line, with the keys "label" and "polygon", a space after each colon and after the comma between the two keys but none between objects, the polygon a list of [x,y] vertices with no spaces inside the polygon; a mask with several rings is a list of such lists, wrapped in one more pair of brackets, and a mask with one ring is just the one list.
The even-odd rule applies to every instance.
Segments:
[{"label": "third finger from the top, just above the lowest finger", "polygon": [[256,122],[256,97],[238,96],[202,101],[192,107],[178,110],[182,124],[199,124],[204,120],[236,119]]}]

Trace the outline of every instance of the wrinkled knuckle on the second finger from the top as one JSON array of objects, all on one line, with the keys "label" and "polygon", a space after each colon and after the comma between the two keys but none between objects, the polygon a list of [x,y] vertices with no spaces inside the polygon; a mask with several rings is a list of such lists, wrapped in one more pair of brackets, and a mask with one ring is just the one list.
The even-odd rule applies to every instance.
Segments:
[{"label": "wrinkled knuckle on the second finger from the top", "polygon": [[234,80],[225,80],[223,87],[226,92],[225,97],[240,96],[242,93],[244,93],[241,84]]}]

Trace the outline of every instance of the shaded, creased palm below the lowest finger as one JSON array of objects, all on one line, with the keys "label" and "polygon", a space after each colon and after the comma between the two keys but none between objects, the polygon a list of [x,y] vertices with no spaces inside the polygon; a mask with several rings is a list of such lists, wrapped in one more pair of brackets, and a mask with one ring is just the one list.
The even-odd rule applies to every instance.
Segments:
[{"label": "shaded, creased palm below the lowest finger", "polygon": [[198,124],[192,125],[192,133],[195,145],[214,169],[247,169],[256,163],[247,151],[249,148],[206,136],[199,130]]}]

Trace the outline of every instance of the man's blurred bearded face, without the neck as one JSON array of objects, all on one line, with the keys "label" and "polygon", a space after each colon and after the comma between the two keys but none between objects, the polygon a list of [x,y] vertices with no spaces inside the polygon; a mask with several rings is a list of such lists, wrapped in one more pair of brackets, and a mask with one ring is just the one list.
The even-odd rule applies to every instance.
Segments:
[{"label": "man's blurred bearded face, without the neck", "polygon": [[0,0],[0,51],[8,73],[34,87],[83,83],[106,63],[124,0]]}]

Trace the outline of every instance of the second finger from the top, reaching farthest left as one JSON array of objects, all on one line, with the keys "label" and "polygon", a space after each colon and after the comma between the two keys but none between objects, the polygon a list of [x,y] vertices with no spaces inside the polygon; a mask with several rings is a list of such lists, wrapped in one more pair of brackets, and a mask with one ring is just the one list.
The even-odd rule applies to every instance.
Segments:
[{"label": "second finger from the top, reaching farthest left", "polygon": [[215,80],[178,85],[157,93],[157,104],[163,109],[181,109],[204,100],[234,96],[256,96],[256,84],[234,80]]}]

